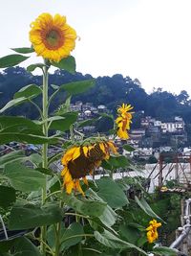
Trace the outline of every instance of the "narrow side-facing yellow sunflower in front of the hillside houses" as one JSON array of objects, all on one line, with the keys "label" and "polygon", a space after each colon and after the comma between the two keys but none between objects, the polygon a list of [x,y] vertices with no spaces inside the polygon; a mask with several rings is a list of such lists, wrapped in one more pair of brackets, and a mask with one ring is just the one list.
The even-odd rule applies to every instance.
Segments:
[{"label": "narrow side-facing yellow sunflower in front of the hillside houses", "polygon": [[132,114],[133,112],[129,112],[133,106],[122,104],[117,108],[117,136],[121,139],[128,139],[129,134],[127,130],[130,129],[130,124],[132,123]]}]

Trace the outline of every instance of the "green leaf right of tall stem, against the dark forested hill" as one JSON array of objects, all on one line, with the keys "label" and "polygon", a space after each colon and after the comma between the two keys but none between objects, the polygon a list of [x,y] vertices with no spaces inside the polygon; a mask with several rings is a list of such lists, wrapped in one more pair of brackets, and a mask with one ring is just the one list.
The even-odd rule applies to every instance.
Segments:
[{"label": "green leaf right of tall stem, against the dark forested hill", "polygon": [[94,85],[95,80],[74,81],[60,85],[60,90],[65,90],[70,95],[76,95],[87,91]]}]

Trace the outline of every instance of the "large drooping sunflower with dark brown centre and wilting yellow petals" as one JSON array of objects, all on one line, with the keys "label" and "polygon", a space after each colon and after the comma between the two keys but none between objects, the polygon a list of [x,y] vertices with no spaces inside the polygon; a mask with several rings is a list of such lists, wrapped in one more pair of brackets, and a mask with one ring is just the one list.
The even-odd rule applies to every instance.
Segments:
[{"label": "large drooping sunflower with dark brown centre and wilting yellow petals", "polygon": [[61,162],[64,169],[61,176],[64,178],[64,187],[67,194],[78,191],[84,196],[79,179],[88,185],[86,175],[93,174],[103,159],[110,157],[110,152],[117,153],[117,148],[112,141],[97,142],[89,146],[74,146],[63,155]]}]

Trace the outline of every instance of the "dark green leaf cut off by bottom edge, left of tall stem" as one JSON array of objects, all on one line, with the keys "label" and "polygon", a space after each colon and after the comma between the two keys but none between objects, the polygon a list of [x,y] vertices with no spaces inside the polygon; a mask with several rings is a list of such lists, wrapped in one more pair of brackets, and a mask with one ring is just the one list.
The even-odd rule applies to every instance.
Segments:
[{"label": "dark green leaf cut off by bottom edge, left of tall stem", "polygon": [[41,256],[37,246],[25,238],[18,238],[13,244],[14,256]]}]

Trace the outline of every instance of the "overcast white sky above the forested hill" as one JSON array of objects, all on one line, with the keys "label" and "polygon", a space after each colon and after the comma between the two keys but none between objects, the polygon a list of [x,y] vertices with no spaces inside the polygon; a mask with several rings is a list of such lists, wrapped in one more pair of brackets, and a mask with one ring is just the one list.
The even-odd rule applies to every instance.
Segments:
[{"label": "overcast white sky above the forested hill", "polygon": [[147,92],[162,87],[176,93],[185,89],[191,95],[191,0],[0,0],[0,4],[1,57],[11,54],[9,48],[30,46],[30,23],[41,12],[60,13],[81,37],[73,52],[77,71],[94,77],[120,73],[138,78]]}]

